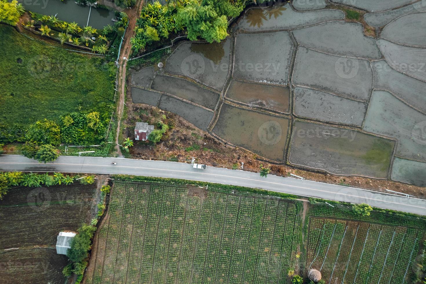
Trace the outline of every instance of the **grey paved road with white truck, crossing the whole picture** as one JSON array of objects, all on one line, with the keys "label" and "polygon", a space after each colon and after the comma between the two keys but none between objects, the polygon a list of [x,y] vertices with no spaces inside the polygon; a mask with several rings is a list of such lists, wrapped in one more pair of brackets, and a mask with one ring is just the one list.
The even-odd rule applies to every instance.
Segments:
[{"label": "grey paved road with white truck, crossing the whole picture", "polygon": [[[111,165],[110,162],[117,162]],[[378,193],[360,188],[331,185],[291,177],[259,174],[241,170],[207,167],[206,170],[192,168],[190,164],[178,162],[149,161],[137,159],[60,156],[52,163],[38,163],[18,155],[0,155],[0,171],[61,171],[70,173],[130,174],[149,177],[169,177],[198,180],[210,183],[262,188],[318,197],[350,203],[368,203],[371,206],[426,215],[426,200],[401,197],[395,194]]]}]

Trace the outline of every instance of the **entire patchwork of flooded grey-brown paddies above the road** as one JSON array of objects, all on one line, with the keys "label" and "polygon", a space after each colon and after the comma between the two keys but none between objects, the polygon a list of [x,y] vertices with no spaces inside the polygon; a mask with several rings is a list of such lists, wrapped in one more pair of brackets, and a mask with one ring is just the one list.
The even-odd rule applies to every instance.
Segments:
[{"label": "entire patchwork of flooded grey-brown paddies above the road", "polygon": [[[251,7],[221,43],[183,41],[164,67],[135,68],[132,103],[260,161],[424,186],[412,173],[426,169],[426,10],[407,1]],[[356,135],[297,133],[317,128]]]}]

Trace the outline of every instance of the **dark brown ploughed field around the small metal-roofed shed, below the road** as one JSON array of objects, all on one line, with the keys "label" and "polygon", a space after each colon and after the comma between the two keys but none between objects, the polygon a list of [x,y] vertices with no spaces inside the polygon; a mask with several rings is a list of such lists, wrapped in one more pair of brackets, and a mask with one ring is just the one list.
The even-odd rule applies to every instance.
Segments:
[{"label": "dark brown ploughed field around the small metal-roofed shed, below the road", "polygon": [[56,237],[89,222],[93,209],[97,212],[95,189],[81,184],[10,189],[0,200],[0,282],[64,283],[68,258],[56,254]]}]

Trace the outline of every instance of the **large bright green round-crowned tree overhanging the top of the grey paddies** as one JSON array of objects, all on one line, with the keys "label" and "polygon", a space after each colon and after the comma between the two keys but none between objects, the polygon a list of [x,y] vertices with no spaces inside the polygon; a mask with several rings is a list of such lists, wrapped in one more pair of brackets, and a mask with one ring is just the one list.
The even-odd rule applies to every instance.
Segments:
[{"label": "large bright green round-crowned tree overhanging the top of the grey paddies", "polygon": [[226,16],[217,14],[211,5],[203,6],[197,2],[178,10],[176,26],[186,27],[191,41],[203,38],[210,43],[220,42],[228,35]]}]

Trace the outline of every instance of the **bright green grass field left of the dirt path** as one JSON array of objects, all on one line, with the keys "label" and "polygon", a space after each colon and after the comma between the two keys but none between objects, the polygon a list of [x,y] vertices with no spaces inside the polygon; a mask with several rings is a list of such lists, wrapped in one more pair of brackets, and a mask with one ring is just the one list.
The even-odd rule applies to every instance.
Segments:
[{"label": "bright green grass field left of the dirt path", "polygon": [[29,125],[112,106],[113,63],[47,46],[11,26],[0,25],[0,36],[0,124]]}]

